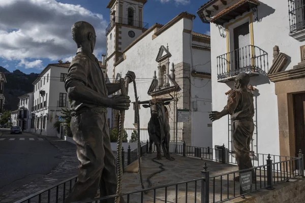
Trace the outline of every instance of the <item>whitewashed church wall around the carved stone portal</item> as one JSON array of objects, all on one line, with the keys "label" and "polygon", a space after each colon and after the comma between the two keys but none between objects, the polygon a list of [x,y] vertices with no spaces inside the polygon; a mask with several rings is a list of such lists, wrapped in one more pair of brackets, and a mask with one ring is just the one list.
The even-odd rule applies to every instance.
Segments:
[{"label": "whitewashed church wall around the carved stone portal", "polygon": [[[134,71],[137,77],[137,93],[139,100],[150,99],[151,96],[147,94],[148,88],[151,84],[151,80],[154,76],[154,71],[158,73],[158,62],[156,57],[161,45],[165,47],[169,46],[169,52],[171,53],[170,63],[179,63],[183,60],[183,29],[184,21],[181,19],[169,29],[164,31],[160,36],[152,40],[154,31],[151,31],[141,41],[131,47],[126,53],[126,59],[118,64],[115,68],[116,73],[121,72],[122,77],[125,76],[127,71]],[[176,33],[175,36],[172,33]],[[147,49],[149,47],[149,49]],[[132,101],[135,101],[133,84],[130,84],[129,93]],[[146,128],[150,119],[150,110],[141,107],[140,109],[140,127]],[[125,114],[125,127],[134,127],[134,110],[131,107]]]}]

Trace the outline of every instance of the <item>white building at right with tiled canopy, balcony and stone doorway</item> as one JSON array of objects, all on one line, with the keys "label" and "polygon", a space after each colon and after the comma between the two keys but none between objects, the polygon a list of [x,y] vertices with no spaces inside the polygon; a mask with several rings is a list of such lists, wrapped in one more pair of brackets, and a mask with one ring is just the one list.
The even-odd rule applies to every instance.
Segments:
[{"label": "white building at right with tiled canopy, balcony and stone doorway", "polygon": [[[302,1],[213,0],[198,15],[210,23],[212,109],[221,111],[238,73],[251,76],[255,153],[296,156],[305,150],[305,18]],[[278,46],[276,46],[278,45]],[[213,146],[230,150],[231,122],[213,123]]]}]

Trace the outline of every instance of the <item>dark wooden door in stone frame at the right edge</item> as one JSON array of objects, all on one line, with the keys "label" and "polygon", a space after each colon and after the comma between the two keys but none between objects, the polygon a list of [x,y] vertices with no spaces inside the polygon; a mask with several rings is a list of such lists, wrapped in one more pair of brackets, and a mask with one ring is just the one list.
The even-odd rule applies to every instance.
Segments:
[{"label": "dark wooden door in stone frame at the right edge", "polygon": [[[305,152],[305,92],[293,95],[294,103],[294,129],[295,129],[295,155],[299,150]],[[305,161],[304,161],[305,165]]]}]

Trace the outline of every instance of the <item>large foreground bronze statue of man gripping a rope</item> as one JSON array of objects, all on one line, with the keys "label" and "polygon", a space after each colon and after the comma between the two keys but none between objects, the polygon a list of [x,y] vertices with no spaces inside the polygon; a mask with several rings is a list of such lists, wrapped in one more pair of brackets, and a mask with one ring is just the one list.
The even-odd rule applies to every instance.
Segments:
[{"label": "large foreground bronze statue of man gripping a rope", "polygon": [[[84,21],[76,22],[72,26],[72,36],[77,53],[70,64],[65,88],[71,99],[70,127],[79,166],[78,181],[65,202],[93,199],[99,188],[100,196],[116,193],[115,157],[110,146],[106,108],[128,110],[131,102],[129,96],[108,97],[120,89],[120,83],[105,82],[99,61],[93,54],[94,27]],[[135,79],[133,72],[128,72],[126,77],[130,82]],[[124,82],[122,80],[120,82]],[[114,202],[114,198],[104,202]]]}]

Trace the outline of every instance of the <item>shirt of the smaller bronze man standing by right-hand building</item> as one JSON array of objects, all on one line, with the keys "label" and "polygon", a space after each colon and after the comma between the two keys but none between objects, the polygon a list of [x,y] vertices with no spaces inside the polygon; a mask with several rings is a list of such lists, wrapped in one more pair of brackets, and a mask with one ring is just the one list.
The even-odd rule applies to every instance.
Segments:
[{"label": "shirt of the smaller bronze man standing by right-hand building", "polygon": [[253,94],[245,88],[234,89],[228,95],[225,109],[232,120],[249,120],[254,116]]}]

